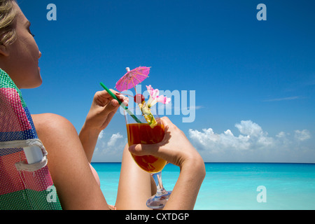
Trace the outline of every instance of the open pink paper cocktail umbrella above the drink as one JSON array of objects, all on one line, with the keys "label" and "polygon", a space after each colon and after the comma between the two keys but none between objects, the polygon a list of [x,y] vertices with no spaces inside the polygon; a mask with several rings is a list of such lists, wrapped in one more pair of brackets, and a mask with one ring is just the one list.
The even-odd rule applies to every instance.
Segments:
[{"label": "open pink paper cocktail umbrella above the drink", "polygon": [[145,66],[139,66],[132,71],[130,71],[130,68],[126,68],[126,70],[127,73],[116,83],[116,89],[120,92],[130,90],[132,87],[134,87],[135,90],[136,85],[148,78],[148,74],[150,73],[150,67]]}]

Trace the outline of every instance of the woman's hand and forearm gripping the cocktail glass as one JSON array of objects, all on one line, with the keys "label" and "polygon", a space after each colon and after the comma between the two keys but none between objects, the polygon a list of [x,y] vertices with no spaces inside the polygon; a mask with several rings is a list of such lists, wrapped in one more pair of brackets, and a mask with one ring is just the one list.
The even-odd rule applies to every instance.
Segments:
[{"label": "woman's hand and forearm gripping the cocktail glass", "polygon": [[162,118],[165,137],[155,145],[138,144],[129,151],[136,155],[155,155],[180,167],[181,173],[165,209],[193,209],[204,176],[204,161],[186,135],[168,118]]}]

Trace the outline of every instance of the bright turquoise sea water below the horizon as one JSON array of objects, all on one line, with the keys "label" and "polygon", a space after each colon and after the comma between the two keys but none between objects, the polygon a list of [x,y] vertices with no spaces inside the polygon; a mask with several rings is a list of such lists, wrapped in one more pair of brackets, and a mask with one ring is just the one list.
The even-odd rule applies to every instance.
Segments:
[{"label": "bright turquoise sea water below the horizon", "polygon": [[[109,204],[115,204],[120,163],[93,163]],[[315,165],[206,163],[195,209],[315,209]],[[174,188],[179,168],[167,165],[163,185]],[[265,188],[257,189],[258,186]],[[264,199],[265,202],[260,199]]]}]

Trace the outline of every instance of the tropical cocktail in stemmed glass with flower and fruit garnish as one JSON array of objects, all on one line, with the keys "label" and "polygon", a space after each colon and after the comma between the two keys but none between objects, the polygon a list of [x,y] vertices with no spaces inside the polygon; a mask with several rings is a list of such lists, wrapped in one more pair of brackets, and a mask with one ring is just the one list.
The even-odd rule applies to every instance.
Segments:
[{"label": "tropical cocktail in stemmed glass with flower and fruit garnish", "polygon": [[[154,90],[151,85],[147,86],[147,88],[148,92],[150,92],[148,102],[145,101],[142,94],[136,94],[136,96],[134,96],[134,102],[139,106],[136,112],[140,112],[136,113],[136,115],[141,114],[141,116],[135,116],[131,111],[125,109],[129,146],[134,144],[158,144],[165,136],[165,127],[162,125],[158,113],[153,116],[151,106],[157,102],[168,104],[171,99],[159,96],[158,90]],[[134,162],[136,162],[141,169],[151,173],[155,181],[156,194],[148,199],[146,206],[151,209],[162,209],[165,207],[172,193],[172,191],[165,190],[161,178],[161,171],[165,165],[167,165],[167,161],[153,155],[139,156],[132,154],[132,158],[134,158]]]}]

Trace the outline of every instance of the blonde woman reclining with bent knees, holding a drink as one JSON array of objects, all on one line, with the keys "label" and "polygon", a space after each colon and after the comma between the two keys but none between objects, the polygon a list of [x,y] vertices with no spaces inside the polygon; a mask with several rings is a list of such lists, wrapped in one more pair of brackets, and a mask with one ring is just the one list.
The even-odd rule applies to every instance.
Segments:
[{"label": "blonde woman reclining with bent knees, holding a drink", "polygon": [[[41,52],[29,27],[30,22],[15,0],[0,0],[0,68],[21,89],[42,83],[38,68]],[[106,91],[97,92],[79,135],[61,116],[32,116],[38,138],[48,151],[50,174],[63,209],[113,208],[106,203],[90,162],[99,133],[109,125],[118,108],[118,102]],[[166,134],[160,144],[125,147],[117,209],[148,209],[146,200],[156,190],[151,175],[136,165],[130,152],[155,155],[179,166],[181,173],[165,209],[193,209],[205,175],[204,162],[181,130],[168,118],[162,118],[162,122]]]}]

